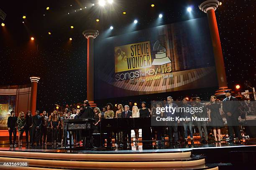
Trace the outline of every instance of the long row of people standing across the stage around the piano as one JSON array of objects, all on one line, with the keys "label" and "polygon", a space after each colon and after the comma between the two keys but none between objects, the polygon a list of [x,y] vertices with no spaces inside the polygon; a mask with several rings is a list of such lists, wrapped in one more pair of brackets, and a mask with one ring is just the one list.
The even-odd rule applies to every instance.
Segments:
[{"label": "long row of people standing across the stage around the piano", "polygon": [[[238,114],[236,113],[236,106],[234,103],[226,102],[231,100],[236,100],[235,97],[231,96],[231,91],[225,91],[226,98],[223,100],[223,107],[221,109],[220,101],[217,100],[215,96],[210,97],[210,104],[201,103],[200,97],[196,97],[195,101],[191,102],[187,98],[182,100],[182,103],[174,101],[172,97],[167,97],[167,103],[165,106],[177,107],[177,105],[182,105],[182,107],[202,107],[204,108],[202,112],[192,115],[188,112],[161,112],[160,116],[166,117],[208,117],[208,121],[172,121],[167,126],[151,126],[151,128],[142,129],[142,140],[165,140],[165,134],[169,136],[169,143],[179,144],[180,142],[187,143],[191,140],[193,143],[193,124],[198,128],[201,142],[208,143],[208,130],[212,129],[214,134],[214,142],[220,143],[221,131],[220,128],[224,127],[222,114],[225,114],[228,124],[229,141],[232,143],[234,141],[234,134],[238,138],[239,142],[242,142],[242,136],[240,129],[238,127]],[[142,102],[141,108],[139,109],[137,105],[132,105],[131,102],[128,105],[117,105],[117,110],[113,111],[113,105],[107,103],[102,110],[98,107],[90,107],[88,100],[84,100],[83,106],[81,108],[65,108],[62,115],[54,110],[49,117],[47,117],[46,111],[43,111],[39,115],[39,111],[36,110],[35,115],[32,116],[31,111],[19,112],[18,117],[15,116],[15,112],[11,111],[11,116],[8,117],[8,130],[9,130],[9,140],[10,147],[17,147],[16,144],[16,133],[18,130],[18,146],[22,146],[23,133],[26,133],[26,145],[45,145],[46,140],[51,143],[58,143],[63,141],[64,131],[63,131],[63,119],[79,119],[79,118],[94,118],[95,119],[95,132],[100,133],[100,121],[102,119],[110,118],[135,118],[135,117],[154,117],[159,116],[156,114],[157,107],[163,107],[162,102],[157,102],[153,107],[146,107],[147,103]],[[101,127],[104,128],[104,127]],[[166,133],[166,130],[168,132]],[[135,144],[138,143],[139,130],[134,129],[135,132]],[[72,145],[83,145],[86,141],[83,138],[82,130],[76,130],[75,132],[68,132],[67,144],[69,145],[69,140],[71,140]],[[188,134],[189,133],[189,134]],[[69,136],[71,134],[71,136]],[[218,134],[218,135],[217,135]],[[12,140],[13,135],[13,140]],[[115,138],[115,143],[123,145],[123,143],[131,143],[131,130],[119,133],[109,133],[106,137],[107,146],[112,146],[112,138]],[[28,138],[30,136],[30,138]],[[188,138],[188,136],[190,138]],[[173,138],[174,137],[174,138]],[[105,138],[103,139],[103,145],[105,143]]]}]

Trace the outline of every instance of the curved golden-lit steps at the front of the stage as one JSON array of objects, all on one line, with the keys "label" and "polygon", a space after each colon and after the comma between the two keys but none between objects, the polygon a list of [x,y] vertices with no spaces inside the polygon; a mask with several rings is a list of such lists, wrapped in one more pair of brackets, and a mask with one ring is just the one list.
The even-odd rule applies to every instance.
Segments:
[{"label": "curved golden-lit steps at the front of the stage", "polygon": [[[47,152],[47,151],[46,151]],[[47,169],[209,169],[205,166],[205,157],[191,158],[190,151],[164,153],[44,153],[0,151],[0,162],[26,162],[26,170]],[[8,167],[0,165],[1,170]],[[12,170],[24,168],[12,167]],[[210,169],[218,170],[218,166]],[[25,170],[25,169],[24,169]],[[47,169],[49,170],[49,169]],[[56,169],[55,169],[56,170]]]}]

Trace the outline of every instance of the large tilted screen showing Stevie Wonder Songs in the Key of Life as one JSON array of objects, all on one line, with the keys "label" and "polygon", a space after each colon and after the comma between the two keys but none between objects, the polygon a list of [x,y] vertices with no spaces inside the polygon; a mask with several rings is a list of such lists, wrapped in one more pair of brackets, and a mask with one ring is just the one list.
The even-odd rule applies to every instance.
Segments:
[{"label": "large tilted screen showing Stevie Wonder Songs in the Key of Life", "polygon": [[207,18],[95,43],[96,100],[218,86]]}]

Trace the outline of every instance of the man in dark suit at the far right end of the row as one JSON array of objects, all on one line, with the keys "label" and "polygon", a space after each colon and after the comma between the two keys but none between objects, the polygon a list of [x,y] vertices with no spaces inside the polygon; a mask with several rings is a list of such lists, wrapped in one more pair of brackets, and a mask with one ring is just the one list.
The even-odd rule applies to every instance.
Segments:
[{"label": "man in dark suit at the far right end of the row", "polygon": [[225,90],[225,96],[226,98],[223,100],[223,112],[225,113],[228,123],[230,143],[233,143],[234,133],[239,140],[242,139],[242,135],[238,128],[238,101],[236,100],[236,97],[231,96],[231,90]]}]

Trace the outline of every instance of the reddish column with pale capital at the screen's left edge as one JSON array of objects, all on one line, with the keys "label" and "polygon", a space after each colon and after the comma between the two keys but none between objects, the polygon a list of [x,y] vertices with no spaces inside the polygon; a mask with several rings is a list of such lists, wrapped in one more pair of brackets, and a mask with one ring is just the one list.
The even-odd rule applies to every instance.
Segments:
[{"label": "reddish column with pale capital at the screen's left edge", "polygon": [[85,30],[84,37],[87,38],[87,100],[91,106],[95,107],[94,103],[94,38],[99,35],[97,30]]}]

